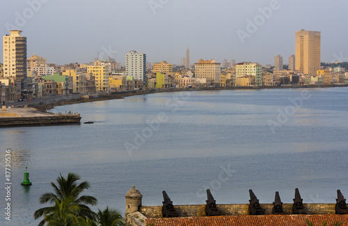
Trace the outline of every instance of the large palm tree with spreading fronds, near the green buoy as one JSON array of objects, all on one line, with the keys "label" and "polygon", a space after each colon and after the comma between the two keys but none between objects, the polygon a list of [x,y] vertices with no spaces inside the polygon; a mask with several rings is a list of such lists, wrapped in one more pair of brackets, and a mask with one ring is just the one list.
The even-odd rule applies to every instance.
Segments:
[{"label": "large palm tree with spreading fronds, near the green buoy", "polygon": [[[81,193],[84,192],[84,190],[88,189],[90,186],[87,181],[83,181],[78,184],[77,181],[79,179],[81,178],[77,174],[70,172],[66,179],[60,174],[60,176],[58,176],[58,178],[56,179],[57,185],[51,182],[54,193],[45,193],[41,195],[40,204],[49,202],[55,205],[38,209],[33,214],[35,219],[38,219],[42,216],[44,217],[44,220],[42,220],[39,224],[40,226],[51,221],[53,222],[52,218],[59,216],[58,213],[54,213],[56,211],[57,205],[63,206],[65,202],[70,202],[72,206],[78,207],[78,211],[74,209],[74,212],[72,213],[76,217],[74,221],[77,220],[77,217],[89,218],[90,220],[96,219],[96,213],[91,211],[87,205],[90,204],[94,206],[95,204],[97,204],[97,199],[92,196],[81,195]],[[68,205],[68,203],[66,203],[66,205]],[[70,224],[71,222],[69,221],[66,225]]]}]

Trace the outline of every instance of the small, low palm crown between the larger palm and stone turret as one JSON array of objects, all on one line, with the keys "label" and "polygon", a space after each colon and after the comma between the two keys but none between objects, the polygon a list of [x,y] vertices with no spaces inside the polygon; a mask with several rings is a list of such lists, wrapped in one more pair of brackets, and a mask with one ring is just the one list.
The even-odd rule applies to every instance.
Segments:
[{"label": "small, low palm crown between the larger palm and stone turret", "polygon": [[97,219],[102,226],[121,226],[125,224],[120,212],[116,209],[109,209],[109,206],[106,206],[103,211],[98,209]]}]

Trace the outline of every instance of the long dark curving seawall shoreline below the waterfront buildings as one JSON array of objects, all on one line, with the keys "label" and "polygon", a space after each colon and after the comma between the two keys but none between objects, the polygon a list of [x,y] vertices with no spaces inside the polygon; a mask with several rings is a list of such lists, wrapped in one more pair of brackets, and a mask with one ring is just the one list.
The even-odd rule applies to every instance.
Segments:
[{"label": "long dark curving seawall shoreline below the waterfront buildings", "polygon": [[313,89],[313,88],[333,88],[333,87],[347,87],[348,84],[330,84],[330,85],[302,85],[302,86],[233,86],[233,87],[219,87],[219,88],[193,88],[193,89],[185,89],[185,88],[176,88],[176,89],[150,89],[148,91],[119,91],[117,93],[111,93],[102,95],[98,98],[91,99],[83,99],[79,100],[61,100],[55,103],[44,103],[42,105],[35,106],[36,109],[46,111],[53,109],[55,106],[63,106],[63,105],[72,105],[75,103],[88,103],[102,100],[116,100],[122,99],[127,96],[136,96],[143,94],[152,94],[152,93],[169,93],[169,92],[180,92],[180,91],[209,91],[209,90],[239,90],[239,89]]}]

